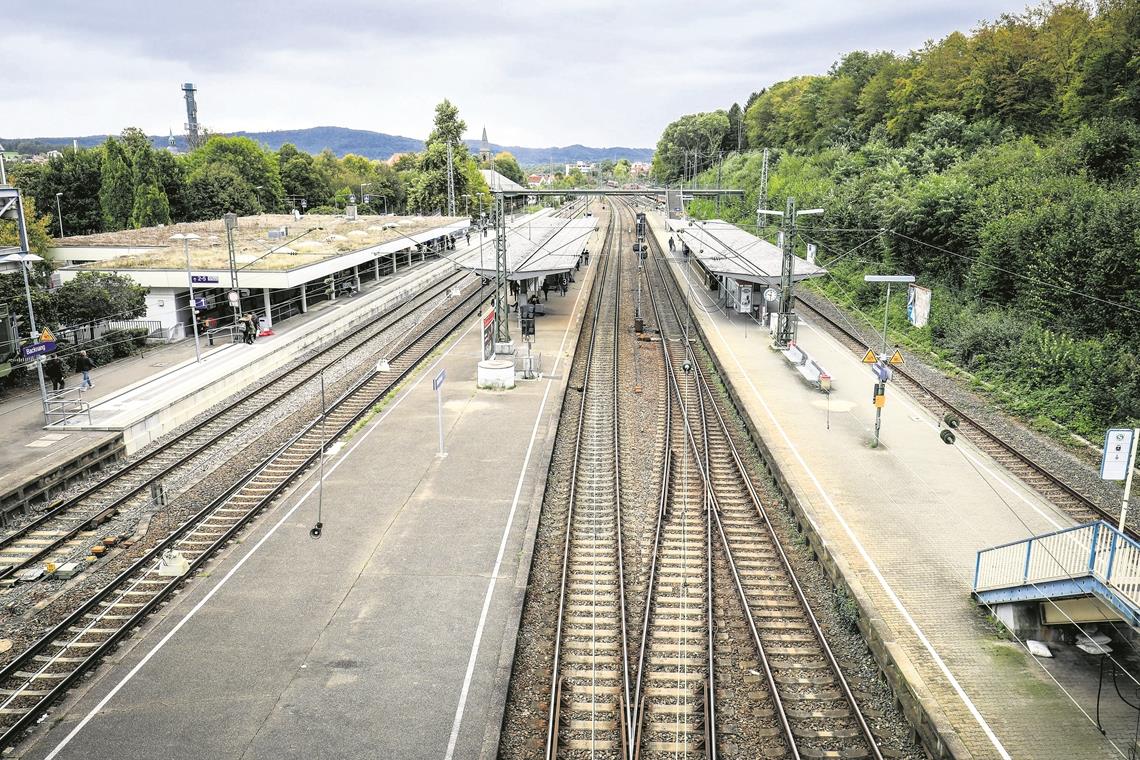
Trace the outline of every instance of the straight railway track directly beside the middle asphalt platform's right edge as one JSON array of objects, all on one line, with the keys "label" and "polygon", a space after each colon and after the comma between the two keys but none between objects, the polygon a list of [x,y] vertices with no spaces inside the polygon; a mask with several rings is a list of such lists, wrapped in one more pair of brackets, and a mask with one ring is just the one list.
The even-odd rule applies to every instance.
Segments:
[{"label": "straight railway track directly beside the middle asphalt platform's right edge", "polygon": [[[618,430],[617,340],[621,227],[602,247],[583,377],[563,540],[547,720],[548,760],[625,758],[629,671]],[[617,248],[618,253],[614,253]]]}]

